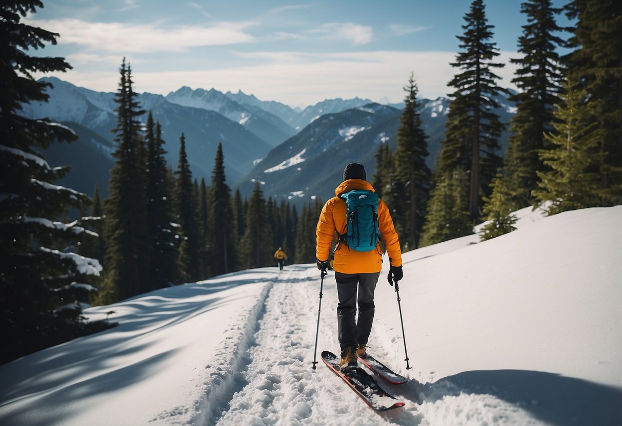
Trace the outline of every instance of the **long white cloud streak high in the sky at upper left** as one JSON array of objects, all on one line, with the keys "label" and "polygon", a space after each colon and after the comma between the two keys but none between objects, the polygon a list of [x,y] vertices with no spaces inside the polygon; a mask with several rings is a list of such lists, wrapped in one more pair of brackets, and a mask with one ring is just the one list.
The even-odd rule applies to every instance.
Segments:
[{"label": "long white cloud streak high in the sky at upper left", "polygon": [[253,22],[219,23],[211,27],[184,25],[174,29],[154,24],[86,22],[80,19],[30,20],[30,23],[61,34],[60,43],[81,45],[104,52],[178,52],[190,47],[253,42],[244,32]]}]

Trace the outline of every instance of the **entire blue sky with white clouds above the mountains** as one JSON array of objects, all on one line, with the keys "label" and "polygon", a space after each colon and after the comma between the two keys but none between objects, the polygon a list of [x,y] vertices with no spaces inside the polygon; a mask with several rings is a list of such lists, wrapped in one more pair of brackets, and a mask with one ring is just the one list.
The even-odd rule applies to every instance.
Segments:
[{"label": "entire blue sky with white clouds above the mountains", "polygon": [[[78,86],[115,91],[126,57],[139,92],[241,90],[307,106],[355,96],[399,102],[411,71],[420,96],[445,96],[470,3],[55,0],[26,20],[60,34],[58,45],[32,54],[65,57],[73,70],[57,76]],[[520,4],[486,1],[499,61],[518,57]],[[511,87],[513,71],[508,63],[498,72],[501,85]]]}]

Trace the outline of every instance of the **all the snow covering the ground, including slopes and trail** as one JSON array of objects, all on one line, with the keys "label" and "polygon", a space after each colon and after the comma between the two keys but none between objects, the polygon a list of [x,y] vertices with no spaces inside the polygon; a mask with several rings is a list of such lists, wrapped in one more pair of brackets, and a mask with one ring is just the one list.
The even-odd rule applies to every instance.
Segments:
[{"label": "all the snow covering the ground, including slopes and trail", "polygon": [[[240,271],[161,289],[93,320],[118,327],[0,366],[6,425],[616,425],[622,419],[622,206],[404,254],[376,288],[369,350],[407,376],[378,414],[319,360],[338,351],[333,273]],[[114,311],[110,314],[110,311]]]}]

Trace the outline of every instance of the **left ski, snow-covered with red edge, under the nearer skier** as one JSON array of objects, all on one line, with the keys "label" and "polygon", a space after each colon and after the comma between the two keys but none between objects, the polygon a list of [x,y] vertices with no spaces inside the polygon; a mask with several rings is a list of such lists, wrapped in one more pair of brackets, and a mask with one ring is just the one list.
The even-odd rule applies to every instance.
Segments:
[{"label": "left ski, snow-covered with red edge, under the nearer skier", "polygon": [[339,358],[329,351],[322,351],[322,360],[328,368],[332,369],[333,373],[343,379],[374,410],[386,411],[406,405],[383,391],[376,380],[364,369],[356,367],[340,371]]}]

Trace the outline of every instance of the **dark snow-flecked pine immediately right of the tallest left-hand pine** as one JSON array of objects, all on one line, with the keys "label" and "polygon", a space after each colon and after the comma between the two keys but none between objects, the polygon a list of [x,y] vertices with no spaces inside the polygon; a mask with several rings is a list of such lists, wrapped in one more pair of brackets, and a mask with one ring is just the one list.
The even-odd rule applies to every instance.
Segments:
[{"label": "dark snow-flecked pine immediately right of the tallest left-hand pine", "polygon": [[159,122],[154,124],[151,112],[147,119],[147,169],[145,196],[146,224],[151,247],[148,290],[164,288],[177,281],[175,235],[171,226],[172,198],[167,179],[164,140]]}]

